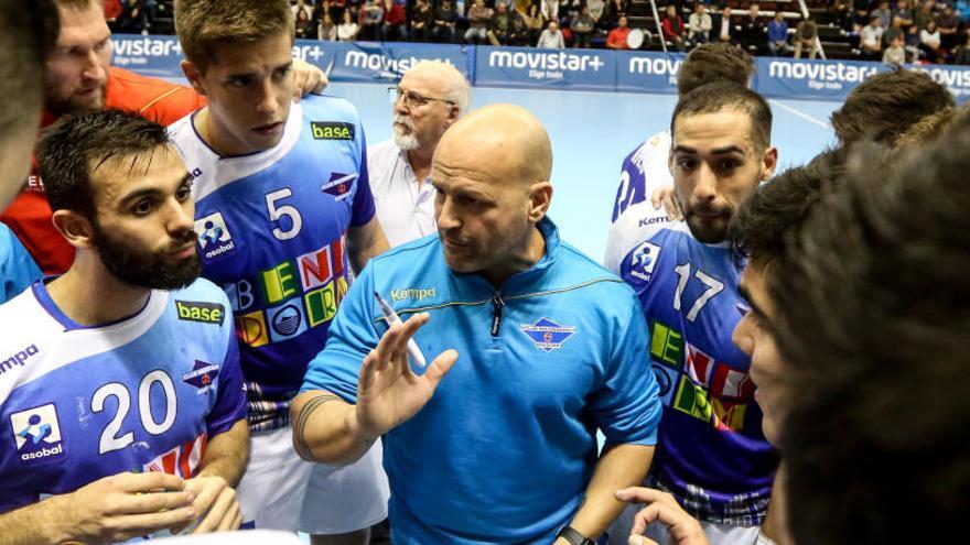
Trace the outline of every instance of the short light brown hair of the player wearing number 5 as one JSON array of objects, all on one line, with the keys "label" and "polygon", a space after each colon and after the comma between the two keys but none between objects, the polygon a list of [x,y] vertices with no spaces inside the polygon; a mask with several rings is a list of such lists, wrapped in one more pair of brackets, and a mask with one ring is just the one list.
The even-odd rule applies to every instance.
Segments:
[{"label": "short light brown hair of the player wearing number 5", "polygon": [[295,36],[289,0],[175,0],[175,32],[185,58],[205,72],[216,47]]}]

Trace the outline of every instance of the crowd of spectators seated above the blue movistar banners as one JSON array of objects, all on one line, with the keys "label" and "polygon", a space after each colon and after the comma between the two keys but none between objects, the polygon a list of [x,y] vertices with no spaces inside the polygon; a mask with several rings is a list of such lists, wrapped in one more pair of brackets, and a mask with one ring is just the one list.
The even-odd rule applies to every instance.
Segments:
[{"label": "crowd of spectators seated above the blue movistar banners", "polygon": [[[630,17],[636,1],[293,0],[293,12],[297,37],[310,40],[624,50],[638,28],[644,47],[656,48],[661,39],[681,52],[726,42],[754,55],[816,58],[823,30],[847,44],[843,56],[970,65],[970,0],[809,0],[808,18],[795,2],[770,2],[774,9],[762,11],[747,0],[658,0],[659,24]],[[168,34],[171,4],[105,0],[105,12],[115,32]]]}]

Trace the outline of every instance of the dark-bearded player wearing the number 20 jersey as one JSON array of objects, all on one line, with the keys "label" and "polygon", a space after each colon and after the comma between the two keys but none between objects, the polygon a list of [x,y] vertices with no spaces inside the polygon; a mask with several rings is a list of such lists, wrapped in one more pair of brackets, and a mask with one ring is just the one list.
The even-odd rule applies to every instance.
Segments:
[{"label": "dark-bearded player wearing the number 20 jersey", "polygon": [[0,543],[237,527],[246,397],[228,301],[197,280],[191,176],[163,127],[118,110],[41,150],[77,253],[0,306]]}]

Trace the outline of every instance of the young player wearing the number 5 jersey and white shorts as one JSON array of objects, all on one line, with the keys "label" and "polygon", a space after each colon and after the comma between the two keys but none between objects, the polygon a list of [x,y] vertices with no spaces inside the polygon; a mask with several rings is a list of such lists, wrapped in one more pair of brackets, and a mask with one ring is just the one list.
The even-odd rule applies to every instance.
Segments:
[{"label": "young player wearing the number 5 jersey and white shorts", "polygon": [[360,272],[387,249],[360,120],[346,100],[292,102],[288,0],[179,0],[175,26],[183,72],[208,99],[170,133],[195,177],[203,275],[236,313],[252,434],[242,513],[257,527],[363,543],[387,514],[379,447],[355,466],[314,468],[289,432],[290,400],[326,341],[348,261]]}]

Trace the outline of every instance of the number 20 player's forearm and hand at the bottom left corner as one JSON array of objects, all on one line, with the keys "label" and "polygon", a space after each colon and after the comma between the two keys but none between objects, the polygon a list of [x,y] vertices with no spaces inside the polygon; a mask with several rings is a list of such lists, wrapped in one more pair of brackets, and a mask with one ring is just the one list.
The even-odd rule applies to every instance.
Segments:
[{"label": "number 20 player's forearm and hand at the bottom left corner", "polygon": [[112,475],[0,515],[0,545],[121,542],[191,522],[194,499],[172,475]]}]

